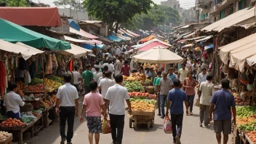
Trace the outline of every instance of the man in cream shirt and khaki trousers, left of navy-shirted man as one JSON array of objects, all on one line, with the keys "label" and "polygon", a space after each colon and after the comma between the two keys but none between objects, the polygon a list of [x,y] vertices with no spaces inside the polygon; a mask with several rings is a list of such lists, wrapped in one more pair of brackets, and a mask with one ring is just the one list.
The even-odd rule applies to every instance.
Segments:
[{"label": "man in cream shirt and khaki trousers, left of navy-shirted man", "polygon": [[215,92],[215,86],[212,84],[212,75],[207,76],[207,81],[201,82],[199,87],[199,100],[200,100],[200,122],[199,125],[207,127],[209,124],[209,106],[211,103],[212,94]]}]

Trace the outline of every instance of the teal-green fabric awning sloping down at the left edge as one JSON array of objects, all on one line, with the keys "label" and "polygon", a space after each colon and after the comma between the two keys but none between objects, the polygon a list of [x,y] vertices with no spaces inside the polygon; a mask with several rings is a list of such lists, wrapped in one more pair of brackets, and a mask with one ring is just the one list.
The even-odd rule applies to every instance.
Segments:
[{"label": "teal-green fabric awning sloping down at the left edge", "polygon": [[15,23],[0,18],[0,39],[16,43],[18,41],[36,48],[48,48],[52,50],[71,49],[71,44],[66,41],[36,33]]}]

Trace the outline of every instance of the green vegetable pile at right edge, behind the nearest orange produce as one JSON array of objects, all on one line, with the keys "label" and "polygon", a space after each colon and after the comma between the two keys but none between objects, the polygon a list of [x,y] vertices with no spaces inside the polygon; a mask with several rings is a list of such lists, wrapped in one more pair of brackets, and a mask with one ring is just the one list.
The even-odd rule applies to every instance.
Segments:
[{"label": "green vegetable pile at right edge, behind the nearest orange produce", "polygon": [[252,106],[236,106],[236,116],[239,118],[252,116],[256,113],[256,108]]}]

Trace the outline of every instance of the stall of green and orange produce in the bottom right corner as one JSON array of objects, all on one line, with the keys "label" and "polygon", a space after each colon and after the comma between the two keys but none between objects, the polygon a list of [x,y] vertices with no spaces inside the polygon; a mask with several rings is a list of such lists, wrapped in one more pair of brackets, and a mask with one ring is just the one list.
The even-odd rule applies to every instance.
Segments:
[{"label": "stall of green and orange produce in the bottom right corner", "polygon": [[236,125],[233,125],[234,144],[256,143],[256,107],[236,106]]}]

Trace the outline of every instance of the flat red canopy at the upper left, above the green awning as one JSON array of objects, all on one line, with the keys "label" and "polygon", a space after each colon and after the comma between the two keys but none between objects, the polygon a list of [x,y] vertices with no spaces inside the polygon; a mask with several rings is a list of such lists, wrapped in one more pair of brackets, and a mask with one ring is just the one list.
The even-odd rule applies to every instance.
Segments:
[{"label": "flat red canopy at the upper left, above the green awning", "polygon": [[23,26],[61,26],[57,7],[0,7],[0,17]]}]

